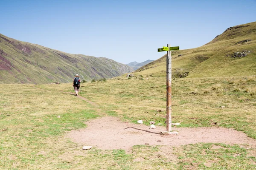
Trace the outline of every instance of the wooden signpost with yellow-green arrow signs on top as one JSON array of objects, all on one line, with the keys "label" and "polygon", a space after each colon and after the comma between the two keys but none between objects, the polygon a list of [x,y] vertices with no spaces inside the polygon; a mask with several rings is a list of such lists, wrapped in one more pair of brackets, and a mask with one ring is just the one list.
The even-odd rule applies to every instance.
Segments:
[{"label": "wooden signpost with yellow-green arrow signs on top", "polygon": [[172,131],[172,50],[180,50],[180,47],[158,48],[157,52],[167,51],[166,56],[166,131]]}]

